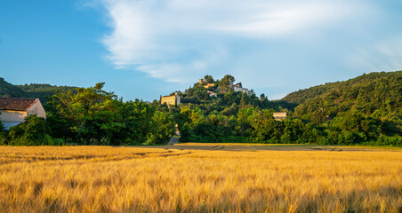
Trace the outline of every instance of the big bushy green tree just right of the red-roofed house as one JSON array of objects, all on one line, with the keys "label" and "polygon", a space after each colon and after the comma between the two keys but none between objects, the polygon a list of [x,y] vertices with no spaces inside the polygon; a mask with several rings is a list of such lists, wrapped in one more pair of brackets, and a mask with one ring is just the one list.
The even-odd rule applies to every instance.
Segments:
[{"label": "big bushy green tree just right of the red-roofed house", "polygon": [[[59,92],[49,102],[52,122],[57,123],[57,135],[71,137],[78,144],[108,144],[113,132],[124,126],[118,122],[121,102],[113,92],[103,91],[104,83],[94,87]],[[72,134],[70,134],[72,133]]]}]

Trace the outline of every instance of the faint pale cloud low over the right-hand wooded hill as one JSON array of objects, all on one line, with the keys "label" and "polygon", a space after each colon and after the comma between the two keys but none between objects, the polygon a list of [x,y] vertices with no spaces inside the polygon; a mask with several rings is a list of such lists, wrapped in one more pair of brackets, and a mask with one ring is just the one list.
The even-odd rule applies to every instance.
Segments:
[{"label": "faint pale cloud low over the right-hand wooded hill", "polygon": [[363,72],[402,70],[402,37],[374,44],[366,49],[360,49],[350,64],[363,67]]}]

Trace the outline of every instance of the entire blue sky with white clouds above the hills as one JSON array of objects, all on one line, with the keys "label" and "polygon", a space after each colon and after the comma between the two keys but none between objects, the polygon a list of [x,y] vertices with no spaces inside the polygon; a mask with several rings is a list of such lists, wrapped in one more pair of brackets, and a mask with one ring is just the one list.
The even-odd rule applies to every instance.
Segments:
[{"label": "entire blue sky with white clouds above the hills", "polygon": [[2,0],[0,76],[158,99],[204,75],[280,99],[402,70],[402,1]]}]

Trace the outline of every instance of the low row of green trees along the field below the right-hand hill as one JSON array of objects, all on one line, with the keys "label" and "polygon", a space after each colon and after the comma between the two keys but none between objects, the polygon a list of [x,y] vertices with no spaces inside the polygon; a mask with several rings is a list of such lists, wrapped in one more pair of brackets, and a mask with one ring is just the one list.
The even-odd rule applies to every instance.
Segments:
[{"label": "low row of green trees along the field below the right-hand hill", "polygon": [[227,116],[205,114],[198,107],[184,106],[176,114],[176,121],[184,142],[402,146],[401,132],[395,122],[367,117],[358,111],[323,123],[292,116],[277,121],[273,112],[252,106]]}]

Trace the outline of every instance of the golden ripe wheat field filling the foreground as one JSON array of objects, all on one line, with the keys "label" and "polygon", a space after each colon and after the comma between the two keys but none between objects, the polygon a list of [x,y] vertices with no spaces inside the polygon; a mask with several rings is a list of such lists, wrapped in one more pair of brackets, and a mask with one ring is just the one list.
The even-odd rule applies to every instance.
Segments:
[{"label": "golden ripe wheat field filling the foreground", "polygon": [[0,212],[398,212],[402,206],[400,149],[192,147],[0,146]]}]

